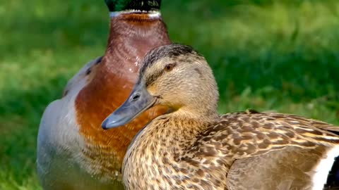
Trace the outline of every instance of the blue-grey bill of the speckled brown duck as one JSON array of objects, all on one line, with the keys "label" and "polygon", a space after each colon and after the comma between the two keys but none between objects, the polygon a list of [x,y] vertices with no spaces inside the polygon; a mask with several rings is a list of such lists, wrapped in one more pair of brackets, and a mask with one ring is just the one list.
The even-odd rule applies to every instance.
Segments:
[{"label": "blue-grey bill of the speckled brown duck", "polygon": [[129,98],[102,122],[102,129],[110,129],[131,122],[154,106],[156,98],[150,95],[143,82],[136,84]]}]

